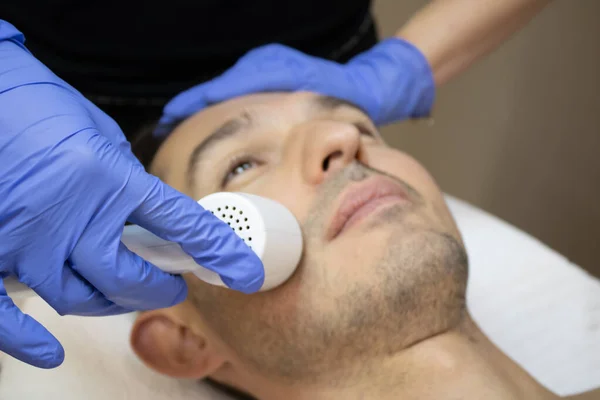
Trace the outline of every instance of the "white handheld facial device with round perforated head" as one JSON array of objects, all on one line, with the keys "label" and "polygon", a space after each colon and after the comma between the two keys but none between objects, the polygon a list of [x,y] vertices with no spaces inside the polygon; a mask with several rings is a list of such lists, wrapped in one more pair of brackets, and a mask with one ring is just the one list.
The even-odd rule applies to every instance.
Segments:
[{"label": "white handheld facial device with round perforated head", "polygon": [[[289,279],[302,255],[302,231],[294,215],[282,204],[247,193],[219,192],[198,201],[212,212],[258,255],[265,269],[260,291],[273,289]],[[145,260],[172,274],[193,273],[212,285],[227,287],[219,275],[198,265],[177,243],[129,225],[121,241]],[[35,292],[12,278],[4,279],[13,299],[31,297]]]}]

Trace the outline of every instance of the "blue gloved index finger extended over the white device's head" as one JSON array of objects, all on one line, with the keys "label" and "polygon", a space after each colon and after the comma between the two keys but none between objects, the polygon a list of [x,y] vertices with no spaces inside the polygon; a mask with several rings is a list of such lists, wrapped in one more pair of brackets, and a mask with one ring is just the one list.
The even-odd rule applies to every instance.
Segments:
[{"label": "blue gloved index finger extended over the white device's head", "polygon": [[[152,190],[130,221],[162,239],[179,243],[195,261],[218,273],[230,288],[253,293],[264,282],[260,258],[231,228],[197,202],[147,175]],[[142,183],[138,177],[135,182]],[[133,181],[133,180],[132,180]]]}]

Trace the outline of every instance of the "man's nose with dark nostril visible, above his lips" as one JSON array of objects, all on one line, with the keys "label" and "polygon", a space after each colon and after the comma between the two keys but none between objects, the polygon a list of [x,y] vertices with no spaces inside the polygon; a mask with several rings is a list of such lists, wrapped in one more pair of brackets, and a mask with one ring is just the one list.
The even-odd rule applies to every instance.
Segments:
[{"label": "man's nose with dark nostril visible, above his lips", "polygon": [[360,132],[350,123],[314,121],[298,132],[304,138],[302,168],[307,183],[318,185],[359,157]]}]

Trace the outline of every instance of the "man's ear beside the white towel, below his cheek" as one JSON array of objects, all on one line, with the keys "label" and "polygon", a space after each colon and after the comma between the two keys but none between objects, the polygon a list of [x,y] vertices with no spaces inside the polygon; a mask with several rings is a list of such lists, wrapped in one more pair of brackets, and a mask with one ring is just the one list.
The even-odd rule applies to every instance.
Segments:
[{"label": "man's ear beside the white towel, below his cheek", "polygon": [[225,360],[204,336],[194,333],[166,310],[142,314],[131,332],[131,347],[148,367],[175,378],[201,379]]}]

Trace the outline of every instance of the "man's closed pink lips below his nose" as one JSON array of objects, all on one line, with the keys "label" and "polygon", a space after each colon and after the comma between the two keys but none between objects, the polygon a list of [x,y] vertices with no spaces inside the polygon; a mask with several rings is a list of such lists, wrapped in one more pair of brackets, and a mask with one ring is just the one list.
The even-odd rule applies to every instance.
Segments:
[{"label": "man's closed pink lips below his nose", "polygon": [[335,239],[384,207],[410,202],[407,190],[389,178],[377,176],[353,185],[341,197],[327,238]]}]

